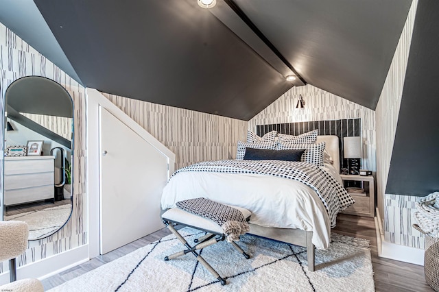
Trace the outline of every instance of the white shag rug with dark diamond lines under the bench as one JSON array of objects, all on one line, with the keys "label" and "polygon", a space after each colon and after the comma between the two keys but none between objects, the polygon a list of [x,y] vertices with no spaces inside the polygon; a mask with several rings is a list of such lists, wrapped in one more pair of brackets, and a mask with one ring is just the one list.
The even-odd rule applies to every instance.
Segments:
[{"label": "white shag rug with dark diamond lines under the bench", "polygon": [[[183,228],[189,244],[203,233]],[[332,234],[328,250],[316,250],[316,271],[307,267],[304,247],[257,236],[241,236],[244,258],[226,241],[202,250],[226,279],[222,286],[193,254],[165,261],[184,250],[174,235],[150,243],[50,291],[375,291],[368,241]]]}]

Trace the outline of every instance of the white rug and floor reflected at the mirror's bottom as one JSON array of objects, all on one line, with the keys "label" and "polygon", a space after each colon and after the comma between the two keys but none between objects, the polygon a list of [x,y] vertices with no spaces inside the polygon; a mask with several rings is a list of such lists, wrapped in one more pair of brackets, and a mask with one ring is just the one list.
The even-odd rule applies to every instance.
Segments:
[{"label": "white rug and floor reflected at the mirror's bottom", "polygon": [[64,225],[69,219],[71,204],[49,207],[38,211],[5,216],[5,221],[25,221],[29,225],[29,239],[42,239]]}]

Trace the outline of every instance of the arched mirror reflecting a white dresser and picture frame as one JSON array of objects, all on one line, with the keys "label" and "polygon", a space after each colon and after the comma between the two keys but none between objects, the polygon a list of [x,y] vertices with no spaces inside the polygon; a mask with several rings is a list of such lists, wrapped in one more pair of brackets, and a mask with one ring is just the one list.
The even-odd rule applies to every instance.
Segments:
[{"label": "arched mirror reflecting a white dresser and picture frame", "polygon": [[73,102],[53,80],[23,77],[6,90],[5,117],[3,220],[42,239],[71,215]]}]

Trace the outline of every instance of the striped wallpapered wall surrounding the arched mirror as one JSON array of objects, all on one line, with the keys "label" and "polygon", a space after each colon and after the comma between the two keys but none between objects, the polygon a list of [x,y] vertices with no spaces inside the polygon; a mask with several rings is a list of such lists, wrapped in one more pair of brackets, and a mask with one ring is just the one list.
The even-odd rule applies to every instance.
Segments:
[{"label": "striped wallpapered wall surrounding the arched mirror", "polygon": [[[16,36],[10,29],[0,23],[0,126],[4,130],[4,95],[6,88],[15,80],[29,75],[50,78],[64,86],[73,99],[74,104],[74,154],[73,154],[73,214],[67,224],[55,234],[29,241],[29,249],[19,256],[19,266],[34,263],[60,252],[71,250],[87,243],[86,230],[86,149],[85,149],[85,88],[71,79],[38,51]],[[1,131],[0,149],[4,148],[4,132]],[[0,164],[3,173],[3,163]],[[3,175],[1,185],[3,185]],[[0,188],[2,189],[2,188]],[[3,193],[0,193],[3,201]],[[3,211],[0,202],[0,212]],[[3,217],[3,214],[1,214]],[[0,263],[0,273],[8,269],[8,262]]]}]

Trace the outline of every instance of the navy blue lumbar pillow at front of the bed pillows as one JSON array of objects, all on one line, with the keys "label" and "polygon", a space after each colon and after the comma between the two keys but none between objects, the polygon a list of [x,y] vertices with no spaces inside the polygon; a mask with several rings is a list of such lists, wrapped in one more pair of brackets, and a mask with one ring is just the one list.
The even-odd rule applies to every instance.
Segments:
[{"label": "navy blue lumbar pillow at front of the bed pillows", "polygon": [[246,147],[245,160],[286,160],[286,161],[300,161],[303,152],[306,149],[285,149],[285,150],[271,150],[271,149],[255,149]]}]

